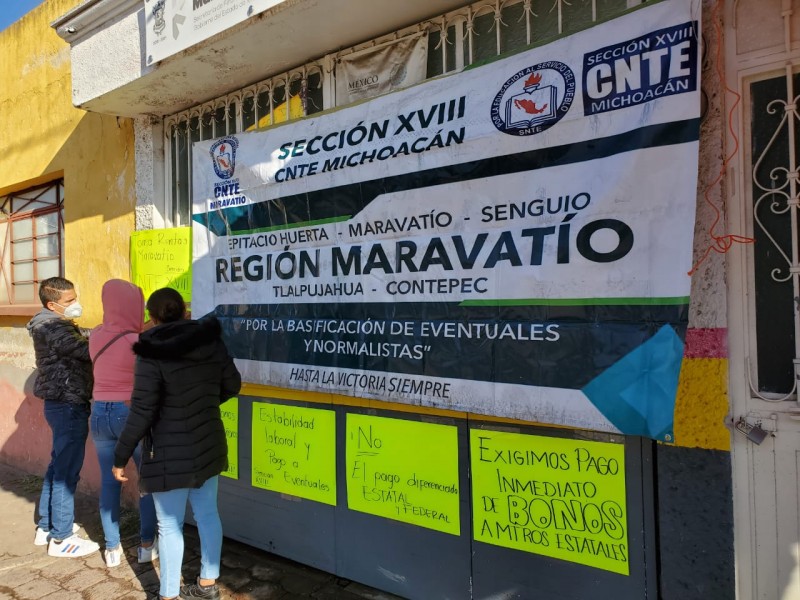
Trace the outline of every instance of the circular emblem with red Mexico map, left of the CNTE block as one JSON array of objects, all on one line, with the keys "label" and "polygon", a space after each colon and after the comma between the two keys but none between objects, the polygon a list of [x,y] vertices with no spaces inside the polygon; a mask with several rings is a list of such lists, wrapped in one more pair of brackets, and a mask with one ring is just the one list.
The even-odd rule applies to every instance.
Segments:
[{"label": "circular emblem with red Mexico map, left of the CNTE block", "polygon": [[547,61],[509,78],[492,101],[492,123],[508,135],[535,135],[558,123],[575,98],[575,75]]}]

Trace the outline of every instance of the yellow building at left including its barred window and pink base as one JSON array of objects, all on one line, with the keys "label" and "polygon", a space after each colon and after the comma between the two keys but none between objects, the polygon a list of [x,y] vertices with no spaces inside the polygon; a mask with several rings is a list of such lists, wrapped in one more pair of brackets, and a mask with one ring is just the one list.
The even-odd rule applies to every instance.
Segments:
[{"label": "yellow building at left including its barred window and pink base", "polygon": [[[50,431],[32,392],[35,360],[25,329],[41,310],[35,282],[71,279],[86,307],[82,324],[97,324],[103,282],[128,277],[124,248],[136,205],[133,121],[71,102],[69,48],[49,24],[76,4],[46,2],[0,32],[0,139],[7,150],[0,159],[0,437],[3,460],[42,475]],[[93,450],[83,480],[87,489],[99,488]]]}]

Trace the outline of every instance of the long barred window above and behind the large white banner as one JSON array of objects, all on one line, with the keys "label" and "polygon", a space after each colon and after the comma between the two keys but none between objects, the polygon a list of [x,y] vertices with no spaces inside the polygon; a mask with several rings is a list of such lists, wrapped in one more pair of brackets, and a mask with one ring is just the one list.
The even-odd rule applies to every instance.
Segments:
[{"label": "long barred window above and behind the large white banner", "polygon": [[332,108],[338,56],[427,29],[427,77],[570,35],[645,0],[482,0],[276,75],[164,120],[169,224],[191,219],[192,143],[268,127]]}]

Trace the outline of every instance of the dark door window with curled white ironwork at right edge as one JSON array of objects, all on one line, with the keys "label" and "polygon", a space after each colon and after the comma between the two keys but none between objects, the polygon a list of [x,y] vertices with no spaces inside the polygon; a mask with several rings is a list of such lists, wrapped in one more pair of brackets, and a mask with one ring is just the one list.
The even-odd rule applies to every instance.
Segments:
[{"label": "dark door window with curled white ironwork at right edge", "polygon": [[[800,373],[800,243],[797,211],[800,74],[750,85],[753,199],[753,310],[756,336],[752,391],[764,399],[796,397]],[[750,368],[750,366],[748,366]]]}]

